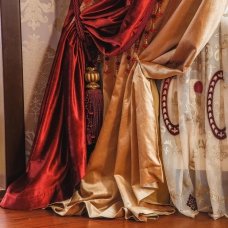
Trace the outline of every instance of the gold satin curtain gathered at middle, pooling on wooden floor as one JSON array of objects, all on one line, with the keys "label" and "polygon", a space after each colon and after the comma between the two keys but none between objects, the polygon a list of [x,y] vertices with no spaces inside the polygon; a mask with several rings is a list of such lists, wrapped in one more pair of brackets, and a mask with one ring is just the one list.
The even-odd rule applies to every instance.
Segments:
[{"label": "gold satin curtain gathered at middle, pooling on wooden floor", "polygon": [[[226,0],[165,2],[159,31],[146,48],[131,53],[136,61],[130,71],[125,53],[116,79],[110,82],[104,74],[103,127],[79,190],[51,205],[59,215],[86,212],[91,218],[146,221],[173,213],[164,184],[153,79],[184,75],[216,29]],[[166,162],[172,164],[172,158]]]}]

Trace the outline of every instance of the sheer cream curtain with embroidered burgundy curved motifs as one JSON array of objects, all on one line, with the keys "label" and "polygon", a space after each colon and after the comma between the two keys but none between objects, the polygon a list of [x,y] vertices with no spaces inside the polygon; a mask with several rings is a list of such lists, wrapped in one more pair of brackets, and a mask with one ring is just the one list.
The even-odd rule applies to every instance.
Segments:
[{"label": "sheer cream curtain with embroidered burgundy curved motifs", "polygon": [[[171,199],[184,215],[228,217],[227,12],[184,77],[163,82],[163,159]],[[169,120],[178,125],[176,135]],[[170,162],[172,160],[172,162]]]}]

